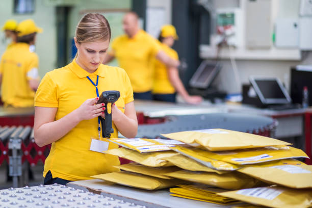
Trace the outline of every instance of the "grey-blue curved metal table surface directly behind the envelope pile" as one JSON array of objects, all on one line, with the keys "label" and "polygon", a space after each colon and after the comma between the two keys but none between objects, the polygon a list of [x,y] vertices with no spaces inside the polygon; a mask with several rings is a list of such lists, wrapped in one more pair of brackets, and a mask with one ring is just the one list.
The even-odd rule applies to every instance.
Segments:
[{"label": "grey-blue curved metal table surface directly behind the envelope pile", "polygon": [[272,118],[243,113],[174,115],[167,116],[164,123],[139,125],[136,137],[155,138],[162,137],[160,134],[207,128],[224,128],[232,131],[270,136],[269,133],[265,135],[265,132],[272,133],[275,127],[276,123]]}]

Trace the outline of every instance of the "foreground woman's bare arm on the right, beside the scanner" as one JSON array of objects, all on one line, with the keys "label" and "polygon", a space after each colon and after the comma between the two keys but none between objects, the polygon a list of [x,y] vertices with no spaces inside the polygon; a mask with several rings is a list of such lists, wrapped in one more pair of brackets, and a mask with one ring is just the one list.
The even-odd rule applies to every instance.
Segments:
[{"label": "foreground woman's bare arm on the right, beside the scanner", "polygon": [[138,119],[134,106],[134,101],[126,103],[124,114],[113,105],[112,119],[118,131],[127,138],[134,138],[138,133]]}]

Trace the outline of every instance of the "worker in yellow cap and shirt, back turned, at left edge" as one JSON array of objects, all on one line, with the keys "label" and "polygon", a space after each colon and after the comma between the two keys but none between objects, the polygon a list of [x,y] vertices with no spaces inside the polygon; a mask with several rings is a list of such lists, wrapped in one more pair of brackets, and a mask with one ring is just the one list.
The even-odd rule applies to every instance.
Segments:
[{"label": "worker in yellow cap and shirt, back turned, at left edge", "polygon": [[0,62],[1,98],[4,106],[33,107],[39,85],[38,56],[30,45],[42,32],[32,19],[21,21],[16,28],[16,44],[9,47]]}]

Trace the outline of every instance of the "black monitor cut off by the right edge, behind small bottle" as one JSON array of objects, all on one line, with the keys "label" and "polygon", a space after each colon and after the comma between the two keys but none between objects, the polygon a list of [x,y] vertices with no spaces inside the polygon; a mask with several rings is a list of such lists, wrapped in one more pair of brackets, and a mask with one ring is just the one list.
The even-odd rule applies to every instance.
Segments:
[{"label": "black monitor cut off by the right edge, behind small bottle", "polygon": [[312,69],[291,69],[291,98],[293,103],[302,103],[303,87],[307,86],[309,91],[309,104],[312,104]]}]

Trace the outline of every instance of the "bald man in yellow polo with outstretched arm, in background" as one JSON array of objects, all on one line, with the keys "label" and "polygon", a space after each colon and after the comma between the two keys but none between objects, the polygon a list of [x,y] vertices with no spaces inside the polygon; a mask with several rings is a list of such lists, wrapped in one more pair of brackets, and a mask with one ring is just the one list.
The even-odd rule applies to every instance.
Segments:
[{"label": "bald man in yellow polo with outstretched arm, in background", "polygon": [[129,12],[123,17],[124,35],[114,39],[111,51],[103,61],[117,58],[118,64],[127,72],[135,99],[152,99],[152,60],[156,57],[168,67],[177,67],[179,61],[168,57],[158,41],[139,28],[138,15]]}]

